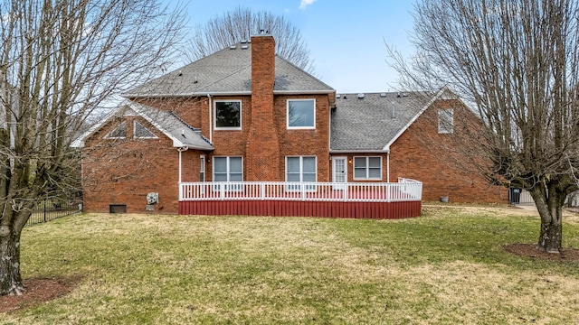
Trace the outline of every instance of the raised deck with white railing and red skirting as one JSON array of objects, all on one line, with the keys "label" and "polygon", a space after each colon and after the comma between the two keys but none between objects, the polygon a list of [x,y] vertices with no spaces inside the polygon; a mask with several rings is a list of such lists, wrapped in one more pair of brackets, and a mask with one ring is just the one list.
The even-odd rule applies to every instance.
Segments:
[{"label": "raised deck with white railing and red skirting", "polygon": [[422,183],[188,182],[179,214],[325,218],[411,218],[422,209]]}]

